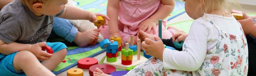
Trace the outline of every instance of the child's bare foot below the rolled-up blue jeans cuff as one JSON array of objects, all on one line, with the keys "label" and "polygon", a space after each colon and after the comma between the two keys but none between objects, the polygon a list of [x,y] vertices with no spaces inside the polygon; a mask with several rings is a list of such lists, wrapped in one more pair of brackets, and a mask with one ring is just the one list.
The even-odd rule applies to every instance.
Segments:
[{"label": "child's bare foot below the rolled-up blue jeans cuff", "polygon": [[85,32],[77,32],[76,37],[74,39],[74,42],[79,46],[79,47],[85,47],[89,43],[93,42],[95,38],[98,38],[100,29],[90,29]]}]

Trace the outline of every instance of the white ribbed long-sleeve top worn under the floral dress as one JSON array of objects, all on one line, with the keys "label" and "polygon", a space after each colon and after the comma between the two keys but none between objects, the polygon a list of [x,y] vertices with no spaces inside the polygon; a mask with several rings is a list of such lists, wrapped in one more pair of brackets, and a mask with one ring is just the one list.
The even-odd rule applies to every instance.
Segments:
[{"label": "white ribbed long-sleeve top worn under the floral dress", "polygon": [[[212,20],[216,26],[230,34],[241,34],[234,17],[204,14],[204,18]],[[237,31],[238,30],[238,31]],[[207,50],[212,50],[219,37],[218,29],[202,17],[196,19],[183,44],[183,51],[165,49],[163,66],[165,69],[195,71],[202,65]]]}]

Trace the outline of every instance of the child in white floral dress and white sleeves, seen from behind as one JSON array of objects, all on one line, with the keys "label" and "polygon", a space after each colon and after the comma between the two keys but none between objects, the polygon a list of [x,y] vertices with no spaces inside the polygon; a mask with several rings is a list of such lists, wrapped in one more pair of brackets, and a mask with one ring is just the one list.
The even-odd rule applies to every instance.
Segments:
[{"label": "child in white floral dress and white sleeves, seen from behind", "polygon": [[[241,76],[248,72],[248,46],[241,24],[230,14],[226,0],[184,0],[195,19],[183,39],[183,50],[164,48],[145,38],[142,49],[151,55],[125,76]],[[186,34],[174,34],[174,40]],[[95,68],[94,76],[105,76]]]}]

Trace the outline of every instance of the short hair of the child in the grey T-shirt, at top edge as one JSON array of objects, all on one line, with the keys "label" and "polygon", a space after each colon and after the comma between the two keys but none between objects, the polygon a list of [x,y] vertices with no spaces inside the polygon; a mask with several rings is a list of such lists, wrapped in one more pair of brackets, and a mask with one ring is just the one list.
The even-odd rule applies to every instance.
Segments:
[{"label": "short hair of the child in the grey T-shirt, at top edge", "polygon": [[43,3],[47,4],[49,0],[21,0],[23,4],[25,4],[27,7],[31,7],[35,3]]}]

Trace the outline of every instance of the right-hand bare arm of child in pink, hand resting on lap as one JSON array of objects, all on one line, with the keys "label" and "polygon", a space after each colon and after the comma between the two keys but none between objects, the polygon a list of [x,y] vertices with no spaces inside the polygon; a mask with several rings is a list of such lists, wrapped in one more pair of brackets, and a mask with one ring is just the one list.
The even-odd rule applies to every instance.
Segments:
[{"label": "right-hand bare arm of child in pink, hand resting on lap", "polygon": [[163,6],[161,6],[159,10],[157,10],[156,13],[154,13],[150,18],[141,22],[139,25],[139,30],[147,30],[147,33],[149,33],[150,30],[153,29],[153,32],[156,32],[155,26],[158,24],[158,20],[163,20],[170,15],[175,6],[174,0],[161,0],[161,2],[163,3]]}]

